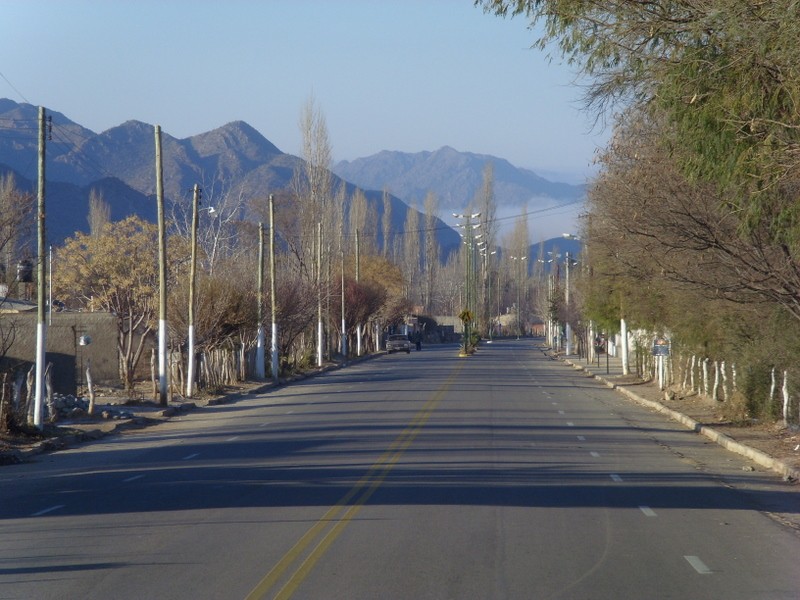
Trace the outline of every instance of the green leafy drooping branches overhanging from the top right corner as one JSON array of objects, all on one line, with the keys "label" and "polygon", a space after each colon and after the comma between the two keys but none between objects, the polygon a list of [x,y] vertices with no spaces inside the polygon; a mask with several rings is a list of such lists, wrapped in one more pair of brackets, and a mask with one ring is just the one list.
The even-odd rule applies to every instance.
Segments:
[{"label": "green leafy drooping branches overhanging from the top right corner", "polygon": [[718,186],[740,231],[769,223],[800,244],[800,5],[741,2],[478,0],[525,15],[589,77],[587,102],[645,110],[667,124],[660,142],[682,173]]}]

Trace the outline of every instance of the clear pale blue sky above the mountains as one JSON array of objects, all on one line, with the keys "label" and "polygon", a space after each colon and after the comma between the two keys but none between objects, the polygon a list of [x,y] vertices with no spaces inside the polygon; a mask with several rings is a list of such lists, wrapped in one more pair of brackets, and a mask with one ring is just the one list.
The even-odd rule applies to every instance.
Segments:
[{"label": "clear pale blue sky above the mountains", "polygon": [[452,146],[581,181],[607,134],[533,40],[471,0],[3,0],[0,97],[97,132],[244,120],[299,154],[313,96],[335,161]]}]

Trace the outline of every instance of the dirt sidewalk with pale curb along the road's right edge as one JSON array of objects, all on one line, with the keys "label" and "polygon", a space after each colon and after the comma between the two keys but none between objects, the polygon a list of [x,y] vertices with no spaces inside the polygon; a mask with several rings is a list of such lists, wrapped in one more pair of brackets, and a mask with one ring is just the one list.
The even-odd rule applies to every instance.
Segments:
[{"label": "dirt sidewalk with pale curb along the road's right edge", "polygon": [[[775,471],[787,481],[800,481],[800,431],[779,426],[737,426],[721,420],[719,407],[705,398],[670,399],[658,388],[658,382],[641,381],[636,375],[622,374],[622,360],[603,354],[599,365],[589,364],[577,355],[555,355],[575,369],[590,373],[595,379],[619,391],[634,402],[664,413],[688,429],[716,442],[723,448],[745,456],[756,464]],[[720,403],[716,403],[720,404]]]}]

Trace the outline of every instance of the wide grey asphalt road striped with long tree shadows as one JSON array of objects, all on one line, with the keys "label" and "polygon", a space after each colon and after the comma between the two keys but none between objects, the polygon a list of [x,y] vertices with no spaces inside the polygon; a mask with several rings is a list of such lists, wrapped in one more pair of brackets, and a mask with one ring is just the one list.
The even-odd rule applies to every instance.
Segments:
[{"label": "wide grey asphalt road striped with long tree shadows", "polygon": [[0,468],[0,599],[800,598],[800,490],[532,340]]}]

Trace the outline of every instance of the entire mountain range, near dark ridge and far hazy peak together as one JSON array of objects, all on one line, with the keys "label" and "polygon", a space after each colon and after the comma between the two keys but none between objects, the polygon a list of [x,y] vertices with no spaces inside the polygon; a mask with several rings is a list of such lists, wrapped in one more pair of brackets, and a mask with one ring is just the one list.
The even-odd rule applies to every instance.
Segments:
[{"label": "entire mountain range, near dark ridge and far hazy peak together", "polygon": [[[48,243],[59,244],[76,231],[88,231],[90,190],[102,193],[111,219],[137,214],[155,220],[155,143],[153,125],[126,121],[95,133],[61,113],[47,111],[46,181]],[[290,188],[301,158],[279,150],[244,121],[189,138],[162,132],[164,194],[167,200],[189,202],[195,184],[204,198],[222,187],[246,197],[265,198]],[[13,173],[17,186],[34,191],[37,179],[38,109],[0,99],[0,174]],[[449,147],[436,152],[404,154],[380,152],[333,169],[334,186],[345,185],[348,194],[361,188],[383,213],[383,190],[391,194],[393,229],[401,231],[409,204],[421,206],[428,191],[439,197],[443,209],[466,208],[480,190],[487,162],[494,165],[495,197],[500,206],[536,206],[574,201],[583,186],[554,183],[508,161],[487,155],[457,152]],[[245,218],[248,215],[244,215]],[[439,243],[458,247],[458,234],[440,221]],[[390,240],[391,242],[391,240]]]}]

